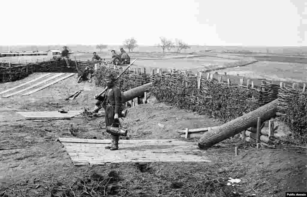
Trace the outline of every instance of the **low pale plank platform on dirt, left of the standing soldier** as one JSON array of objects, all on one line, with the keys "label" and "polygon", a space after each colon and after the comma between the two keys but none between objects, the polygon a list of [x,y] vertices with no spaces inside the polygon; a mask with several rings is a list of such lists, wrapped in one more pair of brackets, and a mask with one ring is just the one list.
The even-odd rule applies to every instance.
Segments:
[{"label": "low pale plank platform on dirt, left of the standing soldier", "polygon": [[81,114],[82,111],[68,111],[60,113],[58,111],[41,111],[41,112],[17,112],[27,119],[50,119],[50,118],[70,118]]}]

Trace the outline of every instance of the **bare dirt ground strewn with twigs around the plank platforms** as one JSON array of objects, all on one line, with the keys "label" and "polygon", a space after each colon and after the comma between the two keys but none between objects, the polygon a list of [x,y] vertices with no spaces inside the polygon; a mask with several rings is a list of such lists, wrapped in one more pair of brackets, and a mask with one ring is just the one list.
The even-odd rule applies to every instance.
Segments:
[{"label": "bare dirt ground strewn with twigs around the plank platforms", "polygon": [[[37,75],[2,83],[0,89],[14,87]],[[64,100],[79,89],[84,91],[76,100]],[[74,138],[70,127],[78,131],[76,138],[106,138],[102,133],[103,117],[32,122],[15,113],[92,109],[94,95],[100,90],[94,81],[76,84],[75,75],[29,96],[1,98],[0,148],[32,146],[0,150],[1,196],[284,196],[286,191],[306,191],[305,150],[256,150],[241,146],[233,138],[207,150],[211,163],[75,167],[56,139]],[[180,138],[177,130],[186,127],[222,123],[150,98],[148,104],[129,108],[122,124],[129,129],[128,136],[137,136],[133,139],[169,139]],[[238,156],[234,146],[239,146]],[[241,182],[227,186],[229,177],[239,178]]]}]

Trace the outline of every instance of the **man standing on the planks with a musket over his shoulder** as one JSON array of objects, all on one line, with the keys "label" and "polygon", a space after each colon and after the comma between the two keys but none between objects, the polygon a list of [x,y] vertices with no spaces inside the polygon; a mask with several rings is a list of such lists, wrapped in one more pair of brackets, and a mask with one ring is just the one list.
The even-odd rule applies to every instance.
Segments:
[{"label": "man standing on the planks with a musket over his shoulder", "polygon": [[[108,132],[108,128],[119,127],[119,109],[121,107],[121,91],[119,87],[115,85],[115,78],[112,74],[106,75],[106,83],[107,87],[107,95],[101,95],[99,100],[103,100],[103,108],[105,110],[105,121],[106,121],[106,130]],[[108,132],[109,133],[109,132]],[[111,134],[111,146],[106,146],[106,149],[110,150],[118,150],[118,141],[119,136]]]}]

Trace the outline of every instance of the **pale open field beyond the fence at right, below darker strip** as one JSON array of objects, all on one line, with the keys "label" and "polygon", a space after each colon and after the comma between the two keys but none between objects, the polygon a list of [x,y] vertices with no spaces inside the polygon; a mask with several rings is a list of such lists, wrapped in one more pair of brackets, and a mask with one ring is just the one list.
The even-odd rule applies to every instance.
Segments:
[{"label": "pale open field beyond the fence at right, below darker strip", "polygon": [[273,81],[307,81],[307,64],[260,61],[251,65],[227,68],[217,71],[219,74],[227,72],[230,75],[249,78],[265,78]]}]

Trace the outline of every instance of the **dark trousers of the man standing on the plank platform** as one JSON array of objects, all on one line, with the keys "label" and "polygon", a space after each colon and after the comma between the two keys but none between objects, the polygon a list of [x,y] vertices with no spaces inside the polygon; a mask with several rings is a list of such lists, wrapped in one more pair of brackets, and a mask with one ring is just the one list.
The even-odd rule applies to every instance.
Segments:
[{"label": "dark trousers of the man standing on the plank platform", "polygon": [[[115,115],[115,108],[112,106],[107,106],[105,109],[105,121],[106,121],[106,128],[108,126],[111,126],[113,123],[113,127],[119,127],[119,120],[114,119]],[[111,134],[111,146],[118,148],[118,141],[119,141],[119,136],[118,135],[113,135]]]}]

